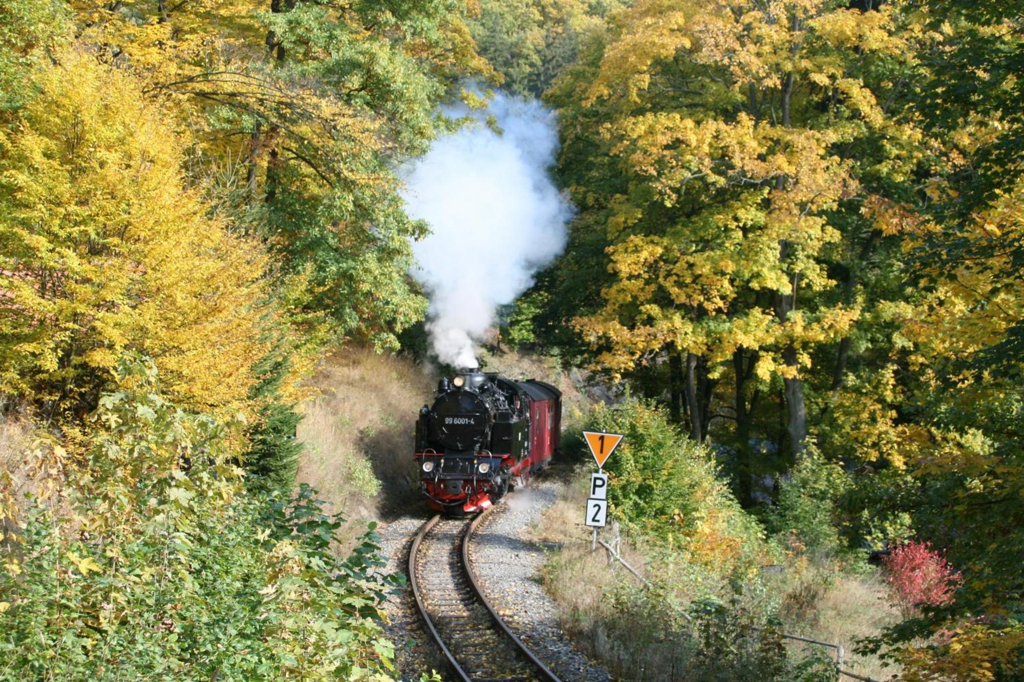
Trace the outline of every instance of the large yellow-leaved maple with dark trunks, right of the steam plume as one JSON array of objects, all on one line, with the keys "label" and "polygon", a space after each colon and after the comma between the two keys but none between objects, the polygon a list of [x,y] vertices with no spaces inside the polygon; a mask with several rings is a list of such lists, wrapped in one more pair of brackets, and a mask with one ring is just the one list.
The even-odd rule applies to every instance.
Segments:
[{"label": "large yellow-leaved maple with dark trunks, right of the steam plume", "polygon": [[[575,324],[598,365],[664,361],[693,437],[734,421],[741,469],[776,390],[799,455],[808,390],[843,376],[841,340],[863,314],[854,261],[890,218],[872,207],[919,158],[919,133],[888,106],[920,40],[895,5],[638,2],[554,90],[582,102],[580,139],[611,156],[601,172],[615,178],[577,186],[611,279]],[[809,389],[818,363],[829,380]]]}]

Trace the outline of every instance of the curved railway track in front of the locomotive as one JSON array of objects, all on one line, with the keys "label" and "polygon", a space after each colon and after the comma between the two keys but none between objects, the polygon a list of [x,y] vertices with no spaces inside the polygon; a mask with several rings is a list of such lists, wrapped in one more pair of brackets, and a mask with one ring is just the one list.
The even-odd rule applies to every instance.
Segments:
[{"label": "curved railway track in front of the locomotive", "polygon": [[560,682],[508,628],[480,591],[469,540],[490,508],[472,521],[434,516],[409,552],[416,606],[463,682]]}]

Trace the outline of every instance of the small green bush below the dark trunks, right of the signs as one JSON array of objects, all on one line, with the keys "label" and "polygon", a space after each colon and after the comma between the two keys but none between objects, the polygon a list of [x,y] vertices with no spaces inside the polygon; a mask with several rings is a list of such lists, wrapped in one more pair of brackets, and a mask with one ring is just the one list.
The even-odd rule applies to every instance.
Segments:
[{"label": "small green bush below the dark trunks, right of the signs", "polygon": [[809,452],[779,484],[778,500],[766,514],[769,532],[787,536],[808,552],[840,552],[837,503],[850,484],[842,466]]}]

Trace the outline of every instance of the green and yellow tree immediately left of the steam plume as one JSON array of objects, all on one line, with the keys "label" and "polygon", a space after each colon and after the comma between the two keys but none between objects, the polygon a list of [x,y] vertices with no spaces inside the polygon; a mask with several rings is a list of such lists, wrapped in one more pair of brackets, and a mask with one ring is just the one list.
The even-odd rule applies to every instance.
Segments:
[{"label": "green and yellow tree immediately left of the steam plume", "polygon": [[174,96],[196,130],[190,172],[259,237],[294,319],[327,339],[395,347],[425,301],[406,272],[423,225],[404,213],[401,161],[425,151],[435,108],[486,75],[465,7],[139,0],[85,3],[83,37]]}]

